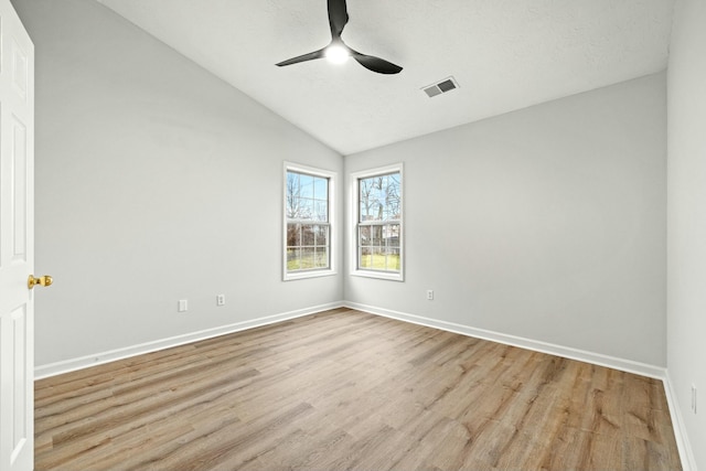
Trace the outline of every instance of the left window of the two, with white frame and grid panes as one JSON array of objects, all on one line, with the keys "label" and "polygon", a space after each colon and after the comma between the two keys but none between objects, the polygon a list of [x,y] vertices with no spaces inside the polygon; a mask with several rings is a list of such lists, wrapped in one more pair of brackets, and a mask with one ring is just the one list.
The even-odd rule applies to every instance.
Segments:
[{"label": "left window of the two, with white frame and grid panes", "polygon": [[285,280],[333,275],[334,173],[285,164]]}]

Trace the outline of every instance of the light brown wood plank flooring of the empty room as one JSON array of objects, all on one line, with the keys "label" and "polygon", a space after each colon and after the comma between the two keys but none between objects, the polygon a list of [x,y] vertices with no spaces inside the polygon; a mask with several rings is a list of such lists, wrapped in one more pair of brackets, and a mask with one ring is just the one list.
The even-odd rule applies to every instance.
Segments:
[{"label": "light brown wood plank flooring of the empty room", "polygon": [[36,470],[678,470],[660,381],[339,309],[35,383]]}]

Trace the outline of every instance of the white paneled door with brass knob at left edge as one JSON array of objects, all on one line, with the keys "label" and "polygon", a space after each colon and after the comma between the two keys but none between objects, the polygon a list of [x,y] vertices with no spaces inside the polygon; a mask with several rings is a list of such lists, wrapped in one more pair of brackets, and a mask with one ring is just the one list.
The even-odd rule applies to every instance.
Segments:
[{"label": "white paneled door with brass knob at left edge", "polygon": [[0,0],[0,470],[34,468],[34,45]]}]

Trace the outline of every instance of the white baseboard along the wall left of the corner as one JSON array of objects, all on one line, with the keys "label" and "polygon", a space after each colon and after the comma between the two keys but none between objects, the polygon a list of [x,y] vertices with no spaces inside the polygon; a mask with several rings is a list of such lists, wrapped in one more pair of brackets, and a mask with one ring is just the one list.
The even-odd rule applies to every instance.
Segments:
[{"label": "white baseboard along the wall left of the corner", "polygon": [[141,343],[124,349],[110,350],[108,352],[96,353],[95,355],[82,356],[78,358],[66,360],[63,362],[50,363],[47,365],[36,366],[34,368],[34,379],[42,379],[63,373],[69,373],[77,370],[96,366],[104,363],[115,362],[116,360],[128,358],[130,356],[142,355],[145,353],[156,352],[158,350],[170,349],[172,346],[184,345],[200,340],[211,339],[218,335],[225,335],[246,329],[258,328],[261,325],[281,322],[289,319],[301,318],[303,315],[313,314],[329,309],[344,307],[343,302],[330,302],[328,304],[313,306],[310,308],[298,309],[296,311],[282,312],[279,314],[267,315],[264,318],[252,319],[248,321],[236,322],[234,324],[223,325],[214,329],[206,329],[199,332],[191,332],[183,335],[171,336],[168,339],[157,340],[153,342]]}]

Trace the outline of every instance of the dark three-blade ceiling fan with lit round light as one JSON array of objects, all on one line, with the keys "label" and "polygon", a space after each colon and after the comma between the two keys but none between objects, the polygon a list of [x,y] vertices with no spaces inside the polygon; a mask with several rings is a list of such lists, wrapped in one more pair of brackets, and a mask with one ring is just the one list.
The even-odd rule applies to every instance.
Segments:
[{"label": "dark three-blade ceiling fan with lit round light", "polygon": [[398,74],[402,71],[399,65],[387,62],[384,58],[373,55],[362,54],[349,47],[341,39],[343,28],[349,22],[349,12],[345,7],[345,0],[328,0],[329,2],[329,24],[331,25],[331,42],[328,46],[319,51],[302,54],[297,57],[282,61],[278,66],[298,64],[314,58],[328,57],[332,62],[344,62],[347,57],[353,57],[363,67],[378,74]]}]

